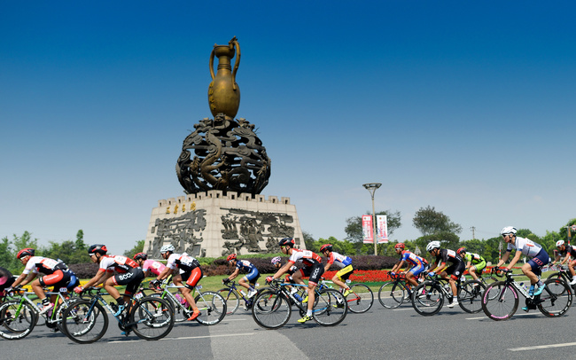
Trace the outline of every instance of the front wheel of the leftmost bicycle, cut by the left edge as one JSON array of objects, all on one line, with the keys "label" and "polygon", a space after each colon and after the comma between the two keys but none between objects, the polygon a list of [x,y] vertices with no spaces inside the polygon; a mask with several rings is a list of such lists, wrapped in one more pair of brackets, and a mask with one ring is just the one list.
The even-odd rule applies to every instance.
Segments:
[{"label": "front wheel of the leftmost bicycle, cut by the left edge", "polygon": [[0,305],[0,337],[7,340],[24,339],[32,333],[37,315],[32,305],[17,300]]}]

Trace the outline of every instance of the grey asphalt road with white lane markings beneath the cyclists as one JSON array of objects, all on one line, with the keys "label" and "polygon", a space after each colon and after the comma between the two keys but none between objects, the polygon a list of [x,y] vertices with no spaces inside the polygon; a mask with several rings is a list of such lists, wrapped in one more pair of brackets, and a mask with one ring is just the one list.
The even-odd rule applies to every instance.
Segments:
[{"label": "grey asphalt road with white lane markings beneath the cyclists", "polygon": [[0,339],[4,359],[541,359],[574,358],[576,309],[549,318],[519,310],[508,321],[495,322],[484,313],[468,314],[444,307],[422,317],[410,305],[384,309],[378,299],[365,314],[348,313],[342,324],[323,327],[299,324],[297,312],[279,330],[256,325],[240,309],[214,326],[176,324],[162,340],[124,337],[113,323],[105,337],[81,345],[62,333],[38,325],[23,340]]}]

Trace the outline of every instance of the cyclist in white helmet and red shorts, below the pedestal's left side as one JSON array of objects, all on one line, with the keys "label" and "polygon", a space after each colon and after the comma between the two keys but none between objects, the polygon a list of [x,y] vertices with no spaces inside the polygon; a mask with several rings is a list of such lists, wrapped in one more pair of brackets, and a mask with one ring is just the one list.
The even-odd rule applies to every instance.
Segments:
[{"label": "cyclist in white helmet and red shorts, below the pedestal's left side", "polygon": [[182,283],[185,282],[184,286],[179,287],[178,290],[193,309],[192,315],[188,317],[188,320],[194,320],[200,315],[200,309],[196,306],[196,301],[194,301],[191,291],[203,277],[202,269],[196,258],[185,254],[175,254],[174,250],[175,248],[172,245],[165,245],[160,248],[162,259],[167,260],[166,269],[151,284],[159,285],[161,280],[167,278],[176,269],[180,270],[179,274],[172,277],[172,282],[175,286],[182,286]]}]

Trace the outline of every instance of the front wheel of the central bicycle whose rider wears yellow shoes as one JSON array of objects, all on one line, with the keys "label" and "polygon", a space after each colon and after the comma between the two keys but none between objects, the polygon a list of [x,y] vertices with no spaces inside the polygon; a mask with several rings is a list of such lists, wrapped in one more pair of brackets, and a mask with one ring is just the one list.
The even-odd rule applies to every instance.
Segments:
[{"label": "front wheel of the central bicycle whose rider wears yellow shoes", "polygon": [[262,290],[254,299],[252,317],[256,324],[265,329],[277,329],[284,326],[291,314],[290,301],[284,293],[278,290]]}]

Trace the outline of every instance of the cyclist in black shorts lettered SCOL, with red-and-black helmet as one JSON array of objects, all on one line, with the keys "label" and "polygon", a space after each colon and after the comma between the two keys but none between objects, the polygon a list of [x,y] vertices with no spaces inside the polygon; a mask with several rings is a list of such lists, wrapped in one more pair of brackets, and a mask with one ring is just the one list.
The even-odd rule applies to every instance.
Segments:
[{"label": "cyclist in black shorts lettered SCOL, with red-and-black helmet", "polygon": [[[130,295],[136,293],[138,286],[144,279],[144,271],[137,262],[122,255],[108,255],[108,248],[103,244],[94,244],[88,248],[90,260],[98,264],[94,278],[90,278],[84,286],[76,286],[75,293],[82,293],[84,287],[102,284],[105,291],[118,302],[118,309],[113,314],[118,317],[128,308],[126,301]],[[124,296],[121,296],[115,286],[126,286]]]}]

